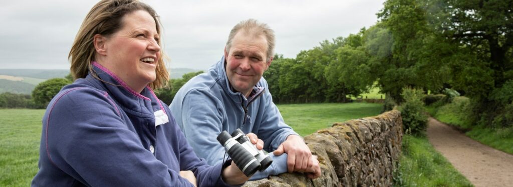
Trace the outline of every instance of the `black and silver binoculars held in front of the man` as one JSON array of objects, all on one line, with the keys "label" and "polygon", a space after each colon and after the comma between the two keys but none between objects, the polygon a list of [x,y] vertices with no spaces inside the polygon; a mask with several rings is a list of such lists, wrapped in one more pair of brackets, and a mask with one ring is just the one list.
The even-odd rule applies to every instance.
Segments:
[{"label": "black and silver binoculars held in front of the man", "polygon": [[225,147],[235,165],[247,177],[253,175],[257,170],[264,171],[272,163],[271,157],[257,149],[257,146],[249,141],[249,138],[240,128],[236,129],[231,135],[223,130],[217,139]]}]

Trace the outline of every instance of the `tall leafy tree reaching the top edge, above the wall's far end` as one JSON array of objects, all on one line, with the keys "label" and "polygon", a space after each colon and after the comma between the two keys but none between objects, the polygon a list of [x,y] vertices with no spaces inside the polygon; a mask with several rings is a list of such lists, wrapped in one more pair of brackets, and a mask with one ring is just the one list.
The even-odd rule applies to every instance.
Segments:
[{"label": "tall leafy tree reaching the top edge, above the wall's far end", "polygon": [[[379,62],[378,83],[382,92],[401,102],[405,86],[438,91],[449,81],[446,60],[451,56],[441,35],[435,32],[428,0],[388,0],[378,13],[382,27],[389,31],[391,53]],[[379,31],[374,36],[388,36]],[[386,32],[385,32],[386,33]],[[372,40],[372,39],[370,39]],[[441,49],[441,50],[440,50]]]}]

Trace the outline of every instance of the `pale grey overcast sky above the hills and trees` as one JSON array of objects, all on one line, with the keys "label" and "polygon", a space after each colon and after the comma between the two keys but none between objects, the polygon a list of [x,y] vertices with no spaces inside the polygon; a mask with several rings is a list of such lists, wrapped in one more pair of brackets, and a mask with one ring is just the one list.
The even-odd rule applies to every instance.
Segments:
[{"label": "pale grey overcast sky above the hills and trees", "polygon": [[[97,1],[2,1],[0,69],[69,69],[68,53]],[[206,70],[231,28],[255,18],[275,32],[275,52],[295,58],[323,40],[374,25],[384,0],[143,1],[161,16],[170,68]]]}]

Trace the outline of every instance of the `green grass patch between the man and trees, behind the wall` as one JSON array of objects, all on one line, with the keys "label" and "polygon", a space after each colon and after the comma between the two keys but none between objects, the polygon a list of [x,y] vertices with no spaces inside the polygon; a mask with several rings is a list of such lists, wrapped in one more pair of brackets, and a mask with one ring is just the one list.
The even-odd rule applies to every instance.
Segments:
[{"label": "green grass patch between the man and trees, behind the wall", "polygon": [[280,104],[278,108],[285,123],[301,136],[306,136],[318,129],[331,127],[334,122],[376,116],[381,113],[383,105],[374,103]]}]

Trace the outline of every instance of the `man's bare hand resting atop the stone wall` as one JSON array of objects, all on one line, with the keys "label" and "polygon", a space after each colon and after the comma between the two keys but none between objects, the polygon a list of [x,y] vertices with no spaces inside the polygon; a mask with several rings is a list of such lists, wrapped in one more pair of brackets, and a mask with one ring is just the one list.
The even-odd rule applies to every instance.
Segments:
[{"label": "man's bare hand resting atop the stone wall", "polygon": [[275,156],[287,153],[287,170],[289,173],[302,172],[310,178],[321,176],[321,169],[317,157],[312,156],[310,148],[303,139],[297,135],[290,135],[274,152]]}]

